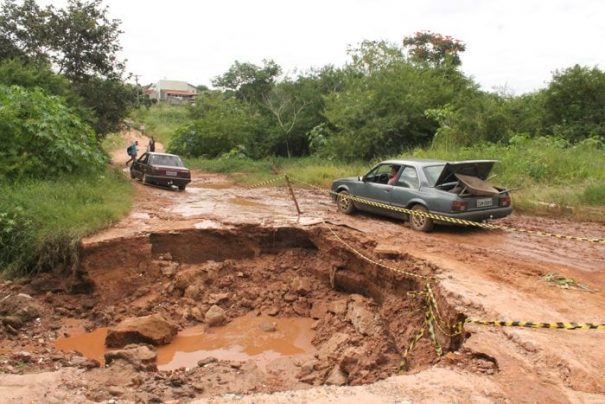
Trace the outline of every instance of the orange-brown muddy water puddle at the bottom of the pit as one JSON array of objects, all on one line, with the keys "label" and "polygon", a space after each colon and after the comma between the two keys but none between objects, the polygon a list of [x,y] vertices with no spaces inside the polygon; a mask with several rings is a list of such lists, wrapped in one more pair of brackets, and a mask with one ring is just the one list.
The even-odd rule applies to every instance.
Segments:
[{"label": "orange-brown muddy water puddle at the bottom of the pit", "polygon": [[[252,314],[239,317],[222,327],[197,326],[181,331],[170,344],[158,347],[157,366],[160,370],[197,366],[200,359],[247,361],[265,369],[285,357],[303,357],[315,352],[311,340],[314,320],[310,318],[273,318]],[[77,351],[104,364],[107,328],[98,328],[56,341],[63,351]]]}]

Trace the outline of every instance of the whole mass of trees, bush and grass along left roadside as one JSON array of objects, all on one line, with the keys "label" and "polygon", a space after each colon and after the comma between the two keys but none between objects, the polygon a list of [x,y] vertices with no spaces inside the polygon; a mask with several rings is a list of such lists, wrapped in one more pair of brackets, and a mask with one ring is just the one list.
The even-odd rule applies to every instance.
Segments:
[{"label": "whole mass of trees, bush and grass along left roadside", "polygon": [[140,91],[124,83],[119,34],[100,1],[0,4],[3,275],[67,274],[80,239],[130,208],[131,184],[101,145]]}]

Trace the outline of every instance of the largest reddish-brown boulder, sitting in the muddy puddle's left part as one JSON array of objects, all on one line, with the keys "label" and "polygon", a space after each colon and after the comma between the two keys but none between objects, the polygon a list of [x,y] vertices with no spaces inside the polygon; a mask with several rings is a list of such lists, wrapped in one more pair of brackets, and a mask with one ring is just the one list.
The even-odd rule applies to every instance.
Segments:
[{"label": "largest reddish-brown boulder, sitting in the muddy puddle's left part", "polygon": [[169,343],[178,328],[161,314],[127,318],[107,330],[105,345],[120,348],[132,343],[163,345]]}]

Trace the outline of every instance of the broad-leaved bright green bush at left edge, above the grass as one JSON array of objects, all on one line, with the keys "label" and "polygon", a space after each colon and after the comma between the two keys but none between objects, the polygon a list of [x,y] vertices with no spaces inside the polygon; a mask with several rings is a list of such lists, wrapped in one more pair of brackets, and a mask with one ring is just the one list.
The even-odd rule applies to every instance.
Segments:
[{"label": "broad-leaved bright green bush at left edge, above the grass", "polygon": [[0,177],[52,177],[105,163],[93,130],[60,98],[0,85],[0,105]]}]

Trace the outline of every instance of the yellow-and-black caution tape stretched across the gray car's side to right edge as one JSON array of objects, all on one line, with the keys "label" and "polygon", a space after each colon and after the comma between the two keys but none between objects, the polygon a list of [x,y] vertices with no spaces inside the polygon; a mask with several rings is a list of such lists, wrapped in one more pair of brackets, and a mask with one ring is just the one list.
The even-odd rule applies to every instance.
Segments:
[{"label": "yellow-and-black caution tape stretched across the gray car's side to right edge", "polygon": [[526,233],[526,234],[530,234],[530,235],[534,235],[534,236],[552,237],[552,238],[558,238],[558,239],[563,239],[563,240],[587,241],[590,243],[605,245],[604,238],[570,236],[570,235],[565,235],[565,234],[549,233],[549,232],[544,232],[544,231],[540,231],[540,230],[529,230],[529,229],[521,229],[521,228],[517,228],[517,227],[503,226],[503,225],[497,225],[497,224],[491,224],[491,223],[475,222],[475,221],[467,220],[467,219],[459,219],[459,218],[450,217],[450,216],[438,215],[438,214],[431,213],[431,212],[423,212],[423,211],[417,211],[417,210],[412,210],[412,209],[408,209],[408,208],[402,208],[399,206],[388,205],[386,203],[376,202],[376,201],[372,201],[372,200],[366,199],[366,198],[361,198],[358,196],[341,195],[334,191],[330,191],[330,194],[334,195],[336,197],[339,197],[339,198],[350,199],[353,202],[363,203],[365,205],[374,206],[374,207],[381,208],[381,209],[387,209],[387,210],[391,210],[394,212],[405,213],[407,215],[427,217],[429,219],[438,220],[441,222],[461,224],[461,225],[465,225],[465,226],[474,226],[474,227],[480,227],[480,228],[489,229],[489,230],[502,230],[502,231],[506,231],[506,232]]}]

